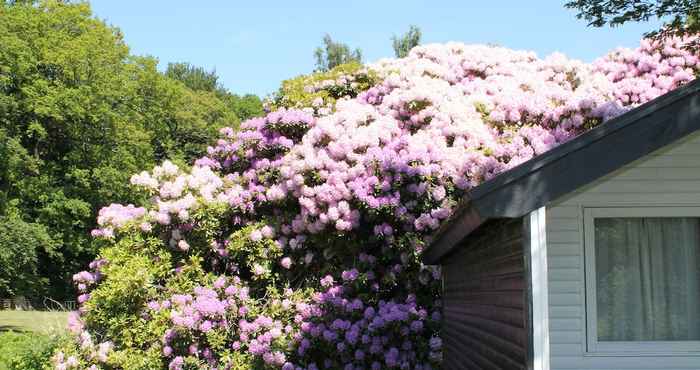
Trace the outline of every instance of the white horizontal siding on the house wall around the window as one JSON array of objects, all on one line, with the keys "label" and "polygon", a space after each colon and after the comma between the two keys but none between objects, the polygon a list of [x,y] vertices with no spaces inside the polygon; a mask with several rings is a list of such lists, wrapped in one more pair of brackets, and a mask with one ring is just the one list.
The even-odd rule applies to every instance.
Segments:
[{"label": "white horizontal siding on the house wall around the window", "polygon": [[[614,155],[611,153],[611,155]],[[595,163],[591,163],[595,166]],[[700,356],[586,354],[583,207],[700,205],[700,134],[625,166],[547,206],[549,333],[554,369],[700,369]]]}]

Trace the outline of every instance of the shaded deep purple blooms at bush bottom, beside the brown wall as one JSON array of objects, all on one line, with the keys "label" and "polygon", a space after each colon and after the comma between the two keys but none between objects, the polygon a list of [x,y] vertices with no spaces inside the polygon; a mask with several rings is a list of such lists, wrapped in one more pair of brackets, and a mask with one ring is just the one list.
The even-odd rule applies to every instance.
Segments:
[{"label": "shaded deep purple blooms at bush bottom, beside the brown wall", "polygon": [[439,362],[441,343],[425,335],[439,325],[439,314],[429,317],[411,295],[405,303],[370,306],[342,298],[342,291],[333,286],[320,294],[317,304],[324,308],[303,320],[297,338],[302,364],[295,369],[432,369]]}]

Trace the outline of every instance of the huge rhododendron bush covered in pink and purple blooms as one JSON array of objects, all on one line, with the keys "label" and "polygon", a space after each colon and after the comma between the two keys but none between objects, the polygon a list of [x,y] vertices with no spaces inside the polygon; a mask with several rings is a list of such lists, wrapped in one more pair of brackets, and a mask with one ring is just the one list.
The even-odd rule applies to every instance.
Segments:
[{"label": "huge rhododendron bush covered in pink and purple blooms", "polygon": [[100,211],[57,368],[439,368],[430,234],[470,188],[692,80],[682,46],[426,45],[314,80],[309,106],[133,176],[145,207]]}]

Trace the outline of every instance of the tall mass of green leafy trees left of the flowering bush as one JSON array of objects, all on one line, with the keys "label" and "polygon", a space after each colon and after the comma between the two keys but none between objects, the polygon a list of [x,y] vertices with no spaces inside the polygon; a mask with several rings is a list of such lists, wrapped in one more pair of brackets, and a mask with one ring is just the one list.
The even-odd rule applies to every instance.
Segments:
[{"label": "tall mass of green leafy trees left of the flowering bush", "polygon": [[95,255],[98,205],[140,202],[128,176],[164,158],[186,163],[238,118],[129,53],[83,2],[0,3],[0,216],[40,224],[50,295]]}]

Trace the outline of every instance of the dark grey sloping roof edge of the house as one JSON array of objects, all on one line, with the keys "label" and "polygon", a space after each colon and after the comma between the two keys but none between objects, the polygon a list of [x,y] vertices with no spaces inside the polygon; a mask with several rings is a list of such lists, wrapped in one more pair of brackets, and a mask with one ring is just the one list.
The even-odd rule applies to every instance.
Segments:
[{"label": "dark grey sloping roof edge of the house", "polygon": [[521,217],[700,129],[700,79],[471,189],[423,255],[436,264],[489,219]]}]

